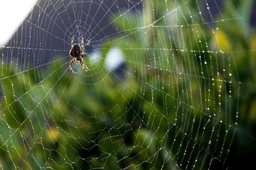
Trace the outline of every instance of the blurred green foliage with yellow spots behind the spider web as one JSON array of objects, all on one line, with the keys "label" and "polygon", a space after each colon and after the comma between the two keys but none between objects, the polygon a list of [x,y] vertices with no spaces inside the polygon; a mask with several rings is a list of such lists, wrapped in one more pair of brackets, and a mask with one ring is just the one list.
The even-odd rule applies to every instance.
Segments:
[{"label": "blurred green foliage with yellow spots behind the spider web", "polygon": [[[84,59],[88,72],[70,73],[62,55],[25,70],[14,58],[0,64],[0,167],[253,166],[253,10],[252,0],[223,1],[207,20],[198,1],[143,1],[141,15],[113,15],[120,34],[95,49],[99,60]],[[125,56],[116,71],[104,63],[112,48]]]}]

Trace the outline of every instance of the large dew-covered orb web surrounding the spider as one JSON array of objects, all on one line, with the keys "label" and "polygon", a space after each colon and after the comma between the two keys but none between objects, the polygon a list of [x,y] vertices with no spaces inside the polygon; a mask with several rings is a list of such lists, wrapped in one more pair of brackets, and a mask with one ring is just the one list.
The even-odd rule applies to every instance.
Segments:
[{"label": "large dew-covered orb web surrounding the spider", "polygon": [[[1,46],[0,167],[225,166],[240,83],[218,26],[241,18],[212,13],[207,0],[38,1]],[[72,36],[88,72],[68,70]]]}]

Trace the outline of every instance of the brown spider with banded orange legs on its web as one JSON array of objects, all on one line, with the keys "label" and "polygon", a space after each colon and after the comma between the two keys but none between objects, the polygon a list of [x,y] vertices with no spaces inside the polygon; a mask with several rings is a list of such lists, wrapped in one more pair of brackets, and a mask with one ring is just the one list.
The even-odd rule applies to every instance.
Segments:
[{"label": "brown spider with banded orange legs on its web", "polygon": [[[83,67],[84,71],[90,70],[88,67],[86,67],[82,61],[82,58],[86,56],[86,53],[84,53],[84,40],[82,39],[82,45],[80,46],[79,44],[73,44],[74,41],[74,36],[71,41],[71,49],[69,51],[70,57],[75,57],[73,60],[71,60],[69,64],[69,69],[72,71],[72,73],[76,73],[72,69],[72,64],[74,62],[80,62],[81,66]],[[77,73],[76,73],[77,74]]]}]

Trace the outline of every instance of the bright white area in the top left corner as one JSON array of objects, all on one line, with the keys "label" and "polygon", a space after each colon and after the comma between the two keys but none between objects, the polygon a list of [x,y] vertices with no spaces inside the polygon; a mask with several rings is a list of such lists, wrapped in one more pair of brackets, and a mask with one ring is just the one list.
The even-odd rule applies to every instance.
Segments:
[{"label": "bright white area in the top left corner", "polygon": [[17,31],[38,0],[0,0],[0,48]]}]

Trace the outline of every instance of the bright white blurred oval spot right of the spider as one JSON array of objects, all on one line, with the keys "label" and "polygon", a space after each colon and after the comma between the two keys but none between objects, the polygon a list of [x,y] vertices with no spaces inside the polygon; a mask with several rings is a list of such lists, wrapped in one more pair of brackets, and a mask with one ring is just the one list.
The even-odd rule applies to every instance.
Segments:
[{"label": "bright white blurred oval spot right of the spider", "polygon": [[117,47],[111,48],[106,54],[105,65],[109,71],[114,71],[124,62],[124,53]]}]

